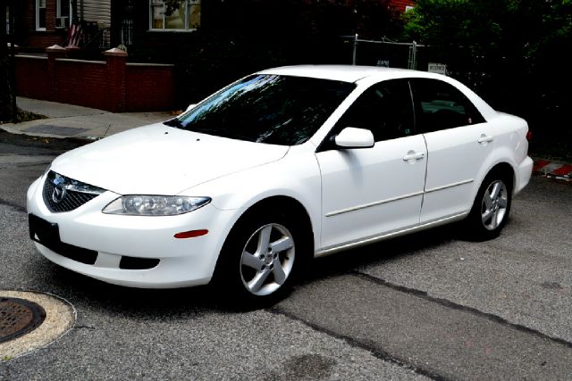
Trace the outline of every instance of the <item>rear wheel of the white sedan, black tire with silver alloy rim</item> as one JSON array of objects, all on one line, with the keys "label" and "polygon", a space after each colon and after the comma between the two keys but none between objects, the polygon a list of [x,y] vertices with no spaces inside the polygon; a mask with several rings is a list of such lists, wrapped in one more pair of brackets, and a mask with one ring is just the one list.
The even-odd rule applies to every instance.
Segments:
[{"label": "rear wheel of the white sedan, black tire with silver alloy rim", "polygon": [[511,203],[511,182],[501,171],[492,171],[484,178],[467,217],[469,237],[485,241],[499,236],[509,219]]}]

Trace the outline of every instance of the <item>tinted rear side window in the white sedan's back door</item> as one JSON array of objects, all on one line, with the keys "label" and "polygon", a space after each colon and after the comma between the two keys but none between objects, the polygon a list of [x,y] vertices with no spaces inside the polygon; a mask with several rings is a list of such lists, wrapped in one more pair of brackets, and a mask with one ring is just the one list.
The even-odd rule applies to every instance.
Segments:
[{"label": "tinted rear side window in the white sedan's back door", "polygon": [[416,128],[421,132],[484,122],[484,118],[457,88],[437,79],[413,79]]}]

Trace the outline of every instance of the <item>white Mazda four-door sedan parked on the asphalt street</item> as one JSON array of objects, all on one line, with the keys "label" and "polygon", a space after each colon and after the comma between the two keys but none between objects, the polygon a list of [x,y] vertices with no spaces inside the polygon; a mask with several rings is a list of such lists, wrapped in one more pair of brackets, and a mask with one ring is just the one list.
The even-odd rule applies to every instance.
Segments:
[{"label": "white Mazda four-door sedan parked on the asphalt street", "polygon": [[264,70],[56,158],[29,186],[29,234],[105,282],[267,302],[313,257],[461,219],[499,235],[530,179],[527,132],[437,74]]}]

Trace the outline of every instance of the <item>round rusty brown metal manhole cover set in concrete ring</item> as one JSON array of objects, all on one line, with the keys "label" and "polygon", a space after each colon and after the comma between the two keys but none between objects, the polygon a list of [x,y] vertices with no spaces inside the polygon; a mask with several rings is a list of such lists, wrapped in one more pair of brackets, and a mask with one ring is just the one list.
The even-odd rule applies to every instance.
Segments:
[{"label": "round rusty brown metal manhole cover set in concrete ring", "polygon": [[0,343],[33,331],[44,319],[46,311],[35,302],[0,297]]}]

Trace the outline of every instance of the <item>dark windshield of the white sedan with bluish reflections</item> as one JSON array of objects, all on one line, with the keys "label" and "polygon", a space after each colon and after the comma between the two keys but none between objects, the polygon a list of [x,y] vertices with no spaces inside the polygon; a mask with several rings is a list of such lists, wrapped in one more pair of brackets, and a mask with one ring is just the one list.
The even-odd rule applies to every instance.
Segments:
[{"label": "dark windshield of the white sedan with bluish reflections", "polygon": [[299,145],[354,89],[347,82],[253,75],[165,124],[250,142]]}]

